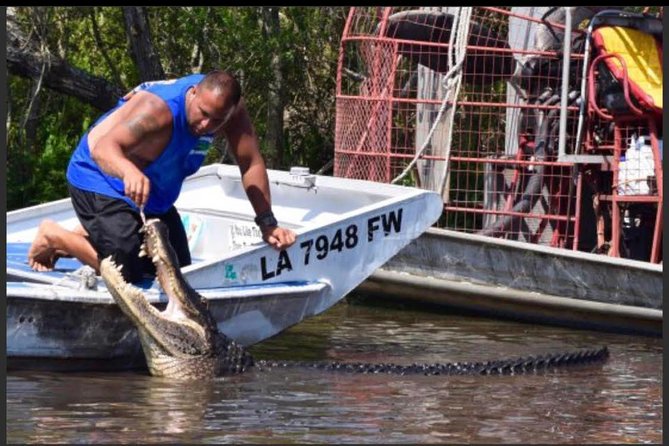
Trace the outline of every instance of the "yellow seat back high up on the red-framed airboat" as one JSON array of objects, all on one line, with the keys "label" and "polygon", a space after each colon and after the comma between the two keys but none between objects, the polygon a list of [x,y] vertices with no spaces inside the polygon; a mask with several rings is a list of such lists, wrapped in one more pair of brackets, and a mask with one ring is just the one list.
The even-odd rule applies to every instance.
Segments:
[{"label": "yellow seat back high up on the red-framed airboat", "polygon": [[[601,61],[627,92],[637,115],[662,115],[662,44],[652,33],[625,26],[601,26],[592,32]],[[629,105],[629,104],[628,104]],[[637,109],[638,108],[638,109]],[[635,111],[635,109],[637,109]]]}]

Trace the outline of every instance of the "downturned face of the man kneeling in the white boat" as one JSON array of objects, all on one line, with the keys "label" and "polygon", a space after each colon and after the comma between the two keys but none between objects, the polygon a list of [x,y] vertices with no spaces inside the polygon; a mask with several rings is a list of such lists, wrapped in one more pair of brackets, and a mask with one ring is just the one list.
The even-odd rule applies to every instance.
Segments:
[{"label": "downturned face of the man kneeling in the white boat", "polygon": [[196,136],[215,133],[230,119],[234,108],[225,93],[198,86],[191,88],[186,97],[186,119],[191,133]]}]

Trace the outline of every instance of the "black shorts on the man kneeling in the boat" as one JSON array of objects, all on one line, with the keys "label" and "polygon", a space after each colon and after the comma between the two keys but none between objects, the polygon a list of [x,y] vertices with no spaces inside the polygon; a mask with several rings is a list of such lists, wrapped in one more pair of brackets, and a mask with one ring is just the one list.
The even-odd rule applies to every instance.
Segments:
[{"label": "black shorts on the man kneeling in the boat", "polygon": [[[89,192],[68,184],[72,206],[88,232],[88,240],[102,260],[112,256],[116,264],[123,265],[121,272],[128,282],[137,282],[145,274],[155,275],[155,268],[147,257],[139,257],[142,245],[142,217],[124,200]],[[146,218],[159,218],[169,229],[170,243],[179,258],[179,266],[191,264],[188,238],[176,208],[161,215],[146,214]]]}]

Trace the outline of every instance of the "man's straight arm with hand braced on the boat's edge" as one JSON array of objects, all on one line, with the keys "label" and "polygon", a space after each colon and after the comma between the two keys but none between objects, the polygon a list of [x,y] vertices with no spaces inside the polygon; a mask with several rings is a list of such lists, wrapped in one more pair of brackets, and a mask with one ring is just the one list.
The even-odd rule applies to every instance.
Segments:
[{"label": "man's straight arm with hand braced on the boat's edge", "polygon": [[[253,210],[257,216],[267,215],[272,210],[267,168],[243,99],[222,131],[239,165],[242,184]],[[295,242],[295,233],[290,229],[261,225],[260,230],[263,239],[277,249],[287,248]]]}]

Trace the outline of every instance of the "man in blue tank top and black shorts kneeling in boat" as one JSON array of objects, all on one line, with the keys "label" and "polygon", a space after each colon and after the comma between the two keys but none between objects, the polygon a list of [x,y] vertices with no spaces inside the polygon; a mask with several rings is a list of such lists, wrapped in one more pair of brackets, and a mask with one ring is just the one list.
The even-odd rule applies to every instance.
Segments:
[{"label": "man in blue tank top and black shorts kneeling in boat", "polygon": [[28,252],[37,271],[72,256],[99,272],[112,255],[124,278],[135,282],[151,271],[139,258],[146,218],[160,218],[180,266],[191,263],[181,218],[174,207],[183,180],[204,161],[215,135],[227,138],[257,215],[263,240],[276,249],[295,242],[277,225],[258,139],[237,80],[224,71],[169,81],[145,82],[119,100],[82,136],[67,169],[72,205],[81,227],[70,231],[52,220],[40,224]]}]

